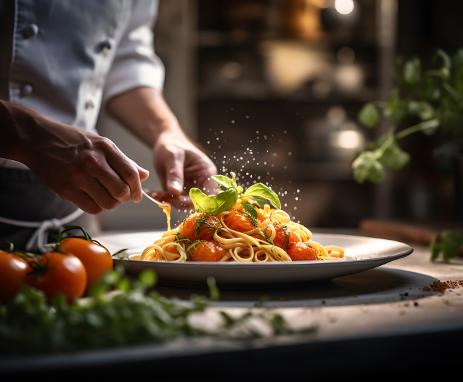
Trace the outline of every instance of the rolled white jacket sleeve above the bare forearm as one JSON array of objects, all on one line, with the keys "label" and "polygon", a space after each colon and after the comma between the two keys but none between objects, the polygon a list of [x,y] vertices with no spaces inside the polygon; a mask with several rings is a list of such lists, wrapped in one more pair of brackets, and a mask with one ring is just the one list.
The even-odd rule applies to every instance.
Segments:
[{"label": "rolled white jacket sleeve above the bare forearm", "polygon": [[152,26],[158,1],[135,0],[126,31],[117,46],[111,71],[106,79],[103,103],[138,87],[162,90],[164,65],[156,56]]}]

